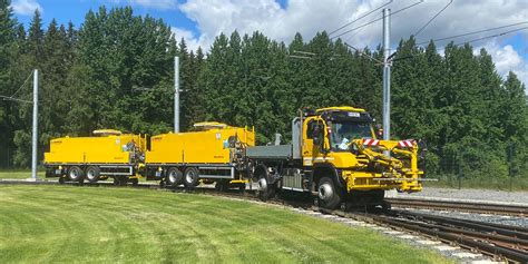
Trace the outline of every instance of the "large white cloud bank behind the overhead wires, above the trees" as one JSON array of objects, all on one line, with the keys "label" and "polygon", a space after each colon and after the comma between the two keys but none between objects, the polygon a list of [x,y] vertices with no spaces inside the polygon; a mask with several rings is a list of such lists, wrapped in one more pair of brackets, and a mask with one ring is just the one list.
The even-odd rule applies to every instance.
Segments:
[{"label": "large white cloud bank behind the overhead wires, above the trees", "polygon": [[[388,2],[389,0],[289,0],[286,8],[275,0],[188,0],[179,6],[179,9],[197,25],[199,36],[193,36],[188,40],[194,41],[208,50],[216,36],[221,32],[229,35],[235,29],[241,35],[252,33],[258,30],[272,39],[285,41],[292,40],[295,32],[301,32],[304,40],[310,40],[317,31],[327,32],[339,28],[348,21],[352,21],[363,13]],[[403,7],[412,4],[418,0],[393,1],[389,8],[392,12]],[[407,39],[411,33],[419,30],[430,18],[442,9],[449,0],[426,1],[409,10],[402,11],[391,17],[391,39],[395,47],[400,39]],[[438,18],[436,18],[418,37],[418,42],[428,41],[442,37],[460,35],[469,31],[477,31],[487,28],[500,27],[516,22],[528,21],[526,0],[514,1],[453,1]],[[364,25],[377,18],[381,18],[381,10],[353,23],[348,29]],[[453,39],[456,43],[469,41],[477,38],[487,37],[498,32],[521,28],[528,25],[520,25],[497,31],[481,32]],[[361,30],[342,37],[346,42],[356,46],[369,46],[375,48],[382,38],[382,21],[373,22]],[[528,30],[520,31],[524,38],[528,36]],[[510,37],[505,36],[499,40]],[[185,36],[184,36],[185,37]],[[448,43],[437,41],[438,47]],[[472,42],[473,46],[482,46],[493,49],[493,55],[498,71],[502,75],[510,69],[514,70],[524,81],[527,81],[527,62],[514,50],[511,46],[497,45],[491,47],[489,39],[486,41]],[[527,47],[522,48],[527,49]]]}]

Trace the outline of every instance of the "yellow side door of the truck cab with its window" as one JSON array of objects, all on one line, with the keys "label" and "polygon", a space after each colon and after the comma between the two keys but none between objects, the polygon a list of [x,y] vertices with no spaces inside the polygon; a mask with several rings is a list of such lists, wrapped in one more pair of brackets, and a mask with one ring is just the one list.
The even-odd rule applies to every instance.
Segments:
[{"label": "yellow side door of the truck cab with its window", "polygon": [[324,140],[324,124],[319,117],[307,118],[303,124],[303,165],[312,166],[315,157],[320,156],[320,149],[314,144],[314,138]]}]

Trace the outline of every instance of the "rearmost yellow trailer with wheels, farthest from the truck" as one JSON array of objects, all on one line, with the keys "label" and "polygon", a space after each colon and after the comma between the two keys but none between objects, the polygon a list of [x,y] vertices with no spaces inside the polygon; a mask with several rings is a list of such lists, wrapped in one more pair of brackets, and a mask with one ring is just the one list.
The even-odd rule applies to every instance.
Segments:
[{"label": "rearmost yellow trailer with wheels, farthest from the truck", "polygon": [[95,130],[94,137],[61,137],[45,153],[46,177],[59,182],[96,183],[113,178],[115,185],[138,183],[146,138],[113,129]]}]

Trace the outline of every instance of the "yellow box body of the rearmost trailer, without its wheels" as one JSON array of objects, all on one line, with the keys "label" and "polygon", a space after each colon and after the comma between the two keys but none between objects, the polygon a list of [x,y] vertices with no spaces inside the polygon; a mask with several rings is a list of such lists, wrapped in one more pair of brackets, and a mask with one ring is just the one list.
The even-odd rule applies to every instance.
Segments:
[{"label": "yellow box body of the rearmost trailer, without its wheels", "polygon": [[56,138],[45,153],[45,164],[129,164],[131,141],[145,153],[146,140],[139,135]]}]

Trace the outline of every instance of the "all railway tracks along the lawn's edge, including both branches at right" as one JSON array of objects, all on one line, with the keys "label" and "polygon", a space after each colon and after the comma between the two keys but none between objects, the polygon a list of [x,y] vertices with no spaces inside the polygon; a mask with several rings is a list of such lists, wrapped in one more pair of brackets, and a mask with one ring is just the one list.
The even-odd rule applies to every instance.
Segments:
[{"label": "all railway tracks along the lawn's edge, including both branches at right", "polygon": [[[0,180],[0,184],[23,184],[23,185],[58,185],[57,182],[27,182],[27,180]],[[75,183],[66,183],[70,185],[79,185]],[[111,183],[98,183],[98,184],[85,184],[85,186],[101,186],[110,187],[114,186]],[[159,189],[158,185],[153,184],[139,184],[135,187],[140,188],[151,188]],[[239,190],[227,190],[227,192],[216,192],[211,187],[201,187],[194,189],[185,188],[165,188],[167,192],[174,193],[194,193],[194,194],[206,194],[213,196],[222,196],[228,198],[239,198],[239,199],[250,199],[250,201],[260,201],[255,197],[254,189],[246,189],[244,192]],[[407,203],[409,199],[389,199],[391,204],[397,206],[408,206],[413,207],[413,204]],[[489,255],[498,260],[507,260],[514,263],[528,263],[528,228],[491,224],[477,221],[467,221],[459,219],[446,216],[437,216],[431,214],[423,213],[413,213],[408,211],[391,209],[388,212],[344,212],[344,211],[329,211],[325,208],[320,208],[312,205],[311,199],[289,199],[289,198],[277,198],[266,201],[270,204],[281,205],[281,206],[291,206],[301,208],[304,211],[314,211],[323,214],[331,214],[338,217],[351,218],[355,221],[362,221],[366,223],[373,223],[378,225],[384,225],[391,228],[404,229],[412,233],[419,233],[428,237],[433,237],[446,243],[457,244],[463,248],[470,251],[478,251],[482,254]],[[395,202],[395,203],[394,203]],[[403,203],[399,203],[403,202]],[[420,205],[420,208],[427,207],[427,203],[423,201]],[[419,202],[419,203],[420,203]],[[430,204],[434,202],[427,201]],[[417,203],[417,204],[419,204]],[[458,207],[475,208],[475,206],[480,206],[475,208],[477,212],[483,213],[486,208],[497,208],[498,205],[490,207],[482,206],[481,204],[469,204],[466,207],[463,203],[453,203],[453,206],[449,206],[447,202],[440,202],[440,206],[436,208],[442,209],[453,209]],[[471,207],[473,206],[473,207]],[[431,206],[432,207],[432,206]],[[428,208],[431,208],[428,207]],[[526,209],[526,208],[525,208]],[[499,213],[503,211],[495,211]],[[507,211],[507,214],[518,213],[526,215],[525,211],[514,209]],[[486,212],[491,213],[491,212]]]}]

